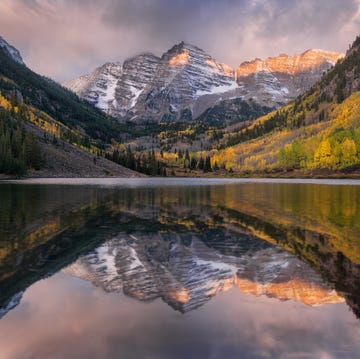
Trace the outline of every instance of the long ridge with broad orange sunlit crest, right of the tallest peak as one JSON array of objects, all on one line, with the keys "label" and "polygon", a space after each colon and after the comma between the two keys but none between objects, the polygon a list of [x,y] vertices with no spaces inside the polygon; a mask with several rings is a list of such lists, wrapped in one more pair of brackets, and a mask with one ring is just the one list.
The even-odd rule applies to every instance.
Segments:
[{"label": "long ridge with broad orange sunlit crest, right of the tallest peak", "polygon": [[242,63],[236,70],[240,94],[267,106],[278,106],[305,93],[344,55],[308,50]]}]

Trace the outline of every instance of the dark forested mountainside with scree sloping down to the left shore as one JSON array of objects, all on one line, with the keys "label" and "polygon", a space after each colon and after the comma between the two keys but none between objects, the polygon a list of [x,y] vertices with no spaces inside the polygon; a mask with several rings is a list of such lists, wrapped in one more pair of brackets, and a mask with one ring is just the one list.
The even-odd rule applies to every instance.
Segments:
[{"label": "dark forested mountainside with scree sloping down to the left shore", "polygon": [[0,173],[132,176],[101,156],[123,134],[118,121],[31,71],[0,38]]}]

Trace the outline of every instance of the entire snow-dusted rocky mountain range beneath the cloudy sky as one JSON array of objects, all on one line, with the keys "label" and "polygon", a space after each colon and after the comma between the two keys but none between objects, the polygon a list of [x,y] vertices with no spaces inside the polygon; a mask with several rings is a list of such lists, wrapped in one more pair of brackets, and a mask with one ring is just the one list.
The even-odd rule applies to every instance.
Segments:
[{"label": "entire snow-dusted rocky mountain range beneath the cloudy sky", "polygon": [[283,105],[309,89],[341,57],[309,50],[256,59],[234,70],[181,42],[161,58],[141,54],[123,66],[105,64],[64,85],[120,120],[188,121],[219,104],[233,107],[233,99],[252,99],[268,109]]}]

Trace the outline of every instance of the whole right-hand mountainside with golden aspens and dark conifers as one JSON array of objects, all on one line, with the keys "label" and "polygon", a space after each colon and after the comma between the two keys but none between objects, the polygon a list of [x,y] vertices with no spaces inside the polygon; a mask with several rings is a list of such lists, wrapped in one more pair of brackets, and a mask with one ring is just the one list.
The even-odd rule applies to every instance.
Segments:
[{"label": "whole right-hand mountainside with golden aspens and dark conifers", "polygon": [[[304,95],[230,135],[213,161],[242,172],[359,173],[360,37]],[[301,175],[298,173],[298,175]],[[296,175],[296,174],[295,174]]]}]

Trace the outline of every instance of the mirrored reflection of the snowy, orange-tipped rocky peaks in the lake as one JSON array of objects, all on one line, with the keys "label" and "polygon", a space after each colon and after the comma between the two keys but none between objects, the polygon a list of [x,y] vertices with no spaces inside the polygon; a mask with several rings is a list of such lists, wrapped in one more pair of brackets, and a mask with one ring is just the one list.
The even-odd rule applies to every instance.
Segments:
[{"label": "mirrored reflection of the snowy, orange-tipped rocky peaks in the lake", "polygon": [[122,234],[64,271],[107,292],[124,292],[142,301],[161,298],[180,312],[196,309],[234,287],[244,294],[307,305],[343,301],[289,253],[256,238],[234,236],[221,243],[204,241],[206,233],[204,238],[200,234]]}]

